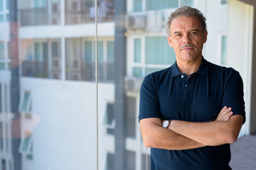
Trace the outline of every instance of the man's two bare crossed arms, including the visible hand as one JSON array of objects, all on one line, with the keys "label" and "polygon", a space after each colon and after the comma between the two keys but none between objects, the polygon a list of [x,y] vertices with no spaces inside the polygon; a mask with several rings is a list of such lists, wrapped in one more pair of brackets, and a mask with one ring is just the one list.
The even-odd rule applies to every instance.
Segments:
[{"label": "man's two bare crossed arms, including the visible hand", "polygon": [[212,122],[193,123],[171,120],[167,128],[161,127],[161,119],[140,120],[144,145],[161,149],[193,149],[223,145],[237,140],[243,116],[233,115],[231,108],[224,107]]}]

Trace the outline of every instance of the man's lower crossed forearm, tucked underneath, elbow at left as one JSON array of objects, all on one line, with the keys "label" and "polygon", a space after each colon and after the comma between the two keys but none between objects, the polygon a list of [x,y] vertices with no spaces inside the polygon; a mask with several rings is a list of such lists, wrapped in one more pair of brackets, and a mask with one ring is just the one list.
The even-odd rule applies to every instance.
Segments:
[{"label": "man's lower crossed forearm, tucked underneath, elbow at left", "polygon": [[141,121],[140,127],[146,147],[161,149],[183,150],[204,147],[206,145],[179,135],[178,133],[161,127],[160,123],[146,124]]}]

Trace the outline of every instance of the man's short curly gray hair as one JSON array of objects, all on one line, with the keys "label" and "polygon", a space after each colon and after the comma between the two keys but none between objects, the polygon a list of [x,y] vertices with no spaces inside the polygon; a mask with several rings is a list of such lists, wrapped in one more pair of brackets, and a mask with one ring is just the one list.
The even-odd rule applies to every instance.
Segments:
[{"label": "man's short curly gray hair", "polygon": [[203,32],[207,31],[206,28],[206,17],[203,16],[203,13],[199,11],[197,8],[192,8],[191,6],[182,6],[181,8],[177,8],[176,11],[171,13],[168,21],[166,23],[166,33],[169,37],[171,37],[171,21],[180,16],[195,16],[199,19]]}]

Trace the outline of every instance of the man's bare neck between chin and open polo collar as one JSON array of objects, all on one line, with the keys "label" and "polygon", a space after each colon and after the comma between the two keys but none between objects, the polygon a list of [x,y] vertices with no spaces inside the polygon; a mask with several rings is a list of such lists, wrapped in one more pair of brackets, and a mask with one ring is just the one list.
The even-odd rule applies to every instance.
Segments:
[{"label": "man's bare neck between chin and open polo collar", "polygon": [[177,60],[178,69],[182,74],[193,74],[199,69],[201,61],[202,57],[198,57],[198,60],[191,61]]}]

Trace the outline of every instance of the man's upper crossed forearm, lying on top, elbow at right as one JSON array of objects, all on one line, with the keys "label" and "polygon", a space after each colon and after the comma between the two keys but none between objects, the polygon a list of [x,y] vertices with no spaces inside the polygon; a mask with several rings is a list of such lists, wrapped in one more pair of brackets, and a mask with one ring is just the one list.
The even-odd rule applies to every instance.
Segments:
[{"label": "man's upper crossed forearm, lying on top, elbow at right", "polygon": [[[230,118],[227,122],[213,121],[208,123],[171,120],[169,129],[204,145],[216,146],[235,142],[240,126],[242,126],[240,120],[235,117]],[[235,126],[238,128],[235,128]]]}]

